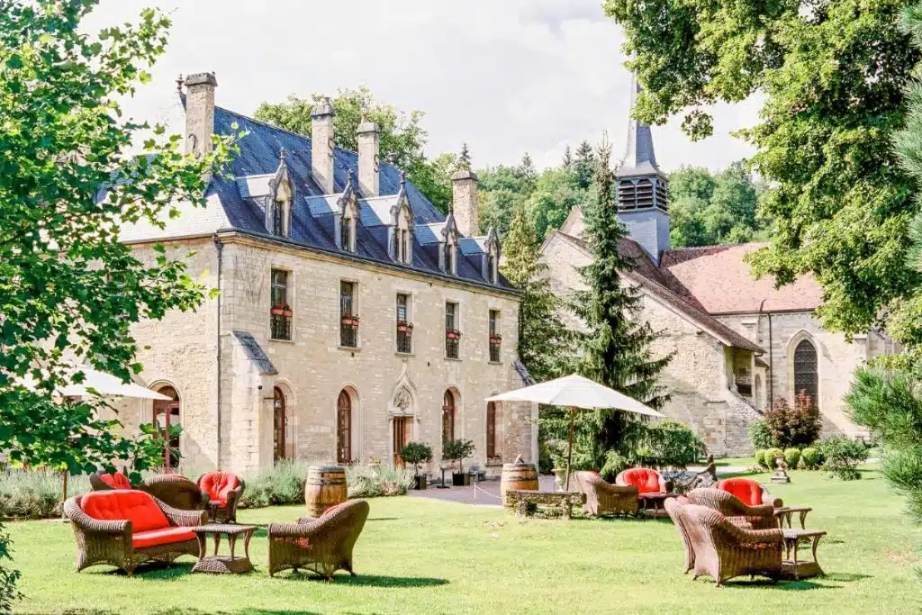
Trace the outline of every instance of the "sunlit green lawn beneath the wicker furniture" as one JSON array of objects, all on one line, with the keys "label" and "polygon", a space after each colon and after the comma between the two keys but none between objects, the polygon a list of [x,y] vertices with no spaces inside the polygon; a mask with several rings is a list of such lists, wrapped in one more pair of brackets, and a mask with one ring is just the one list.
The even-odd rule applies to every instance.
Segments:
[{"label": "sunlit green lawn beneath the wicker furniture", "polygon": [[[767,479],[758,475],[757,479]],[[810,526],[829,531],[820,562],[828,576],[771,585],[748,577],[715,588],[681,574],[683,551],[668,522],[517,520],[498,508],[417,498],[372,501],[356,578],[335,583],[265,573],[266,538],[251,545],[257,572],[189,574],[191,558],[135,578],[105,566],[74,572],[70,527],[10,524],[22,570],[24,613],[918,613],[920,538],[903,503],[876,470],[843,483],[792,472],[774,487],[810,504]],[[301,507],[243,511],[243,523],[294,519]]]}]

